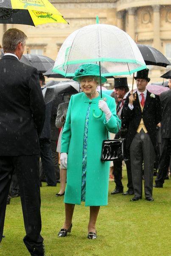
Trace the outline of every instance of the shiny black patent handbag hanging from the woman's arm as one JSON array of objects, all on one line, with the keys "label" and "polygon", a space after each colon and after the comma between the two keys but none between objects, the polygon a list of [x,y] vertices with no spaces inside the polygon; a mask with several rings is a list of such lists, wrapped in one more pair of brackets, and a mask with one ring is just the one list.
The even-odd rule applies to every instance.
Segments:
[{"label": "shiny black patent handbag hanging from the woman's arm", "polygon": [[127,160],[124,155],[124,148],[126,146],[126,139],[121,138],[121,132],[119,131],[119,139],[109,140],[109,134],[107,131],[107,140],[103,140],[101,149],[101,161],[122,161]]}]

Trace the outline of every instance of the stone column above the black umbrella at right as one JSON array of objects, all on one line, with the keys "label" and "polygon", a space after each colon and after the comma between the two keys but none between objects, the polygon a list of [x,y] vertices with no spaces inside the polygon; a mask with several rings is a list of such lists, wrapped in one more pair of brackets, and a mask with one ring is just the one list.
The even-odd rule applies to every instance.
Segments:
[{"label": "stone column above the black umbrella at right", "polygon": [[153,7],[153,47],[160,51],[161,42],[160,42],[160,5],[154,5]]}]

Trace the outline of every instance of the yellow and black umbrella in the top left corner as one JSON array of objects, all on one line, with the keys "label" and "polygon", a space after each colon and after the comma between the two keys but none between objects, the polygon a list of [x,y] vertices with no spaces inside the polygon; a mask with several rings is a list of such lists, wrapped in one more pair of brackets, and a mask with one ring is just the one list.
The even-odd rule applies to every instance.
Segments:
[{"label": "yellow and black umbrella in the top left corner", "polygon": [[67,21],[48,0],[1,0],[0,23],[37,26]]}]

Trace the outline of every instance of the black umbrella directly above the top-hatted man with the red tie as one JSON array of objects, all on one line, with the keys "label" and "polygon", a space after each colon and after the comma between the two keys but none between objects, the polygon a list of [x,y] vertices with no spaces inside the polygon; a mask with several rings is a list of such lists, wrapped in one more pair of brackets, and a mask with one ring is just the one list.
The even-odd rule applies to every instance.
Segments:
[{"label": "black umbrella directly above the top-hatted man with the red tie", "polygon": [[145,44],[137,44],[146,65],[167,67],[170,61],[157,49]]}]

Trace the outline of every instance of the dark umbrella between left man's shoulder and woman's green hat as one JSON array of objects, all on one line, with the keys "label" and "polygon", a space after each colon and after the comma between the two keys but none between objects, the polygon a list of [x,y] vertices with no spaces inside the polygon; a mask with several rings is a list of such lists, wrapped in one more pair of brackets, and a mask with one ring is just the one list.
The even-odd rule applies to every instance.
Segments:
[{"label": "dark umbrella between left man's shoulder and woman's green hat", "polygon": [[75,81],[60,82],[42,90],[45,102],[54,101],[56,104],[61,101],[64,95],[76,94],[80,92],[80,84]]}]

